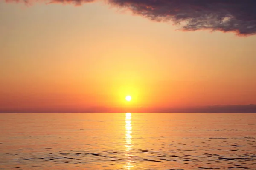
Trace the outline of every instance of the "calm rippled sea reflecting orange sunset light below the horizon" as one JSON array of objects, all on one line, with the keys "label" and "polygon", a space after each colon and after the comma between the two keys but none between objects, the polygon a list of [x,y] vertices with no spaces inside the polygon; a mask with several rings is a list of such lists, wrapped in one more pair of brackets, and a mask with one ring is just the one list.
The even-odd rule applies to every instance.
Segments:
[{"label": "calm rippled sea reflecting orange sunset light below the horizon", "polygon": [[256,170],[256,114],[0,114],[1,170]]}]

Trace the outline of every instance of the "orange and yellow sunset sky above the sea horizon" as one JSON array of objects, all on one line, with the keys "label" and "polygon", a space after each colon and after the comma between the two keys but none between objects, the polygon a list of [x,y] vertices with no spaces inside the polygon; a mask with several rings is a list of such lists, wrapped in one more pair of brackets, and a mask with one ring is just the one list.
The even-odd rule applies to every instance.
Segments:
[{"label": "orange and yellow sunset sky above the sea horizon", "polygon": [[0,112],[256,104],[256,3],[207,2],[0,0]]}]

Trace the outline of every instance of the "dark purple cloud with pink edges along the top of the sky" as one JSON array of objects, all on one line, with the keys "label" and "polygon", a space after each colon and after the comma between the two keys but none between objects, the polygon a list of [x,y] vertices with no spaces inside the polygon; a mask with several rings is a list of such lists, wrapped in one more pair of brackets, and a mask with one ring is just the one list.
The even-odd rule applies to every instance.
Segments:
[{"label": "dark purple cloud with pink edges along the top of the sky", "polygon": [[[19,1],[19,0],[6,0]],[[44,0],[41,0],[44,1]],[[81,5],[96,0],[46,0]],[[210,30],[256,34],[256,0],[105,0],[134,14],[159,22],[172,22],[183,31]]]}]

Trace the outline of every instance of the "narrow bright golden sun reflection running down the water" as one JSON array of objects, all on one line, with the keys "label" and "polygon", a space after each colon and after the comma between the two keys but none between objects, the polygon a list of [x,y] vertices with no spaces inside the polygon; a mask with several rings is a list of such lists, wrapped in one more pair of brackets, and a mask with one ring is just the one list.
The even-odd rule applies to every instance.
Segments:
[{"label": "narrow bright golden sun reflection running down the water", "polygon": [[126,154],[125,156],[128,157],[128,161],[126,162],[126,164],[124,165],[124,168],[126,170],[131,170],[132,167],[134,167],[132,165],[132,157],[133,155],[131,154],[131,150],[132,150],[132,136],[131,136],[131,133],[132,133],[132,125],[131,125],[131,113],[125,113],[126,114],[126,117],[125,117],[125,140],[126,140],[126,144],[125,144],[125,151],[126,151]]}]

